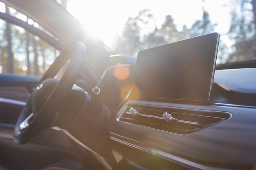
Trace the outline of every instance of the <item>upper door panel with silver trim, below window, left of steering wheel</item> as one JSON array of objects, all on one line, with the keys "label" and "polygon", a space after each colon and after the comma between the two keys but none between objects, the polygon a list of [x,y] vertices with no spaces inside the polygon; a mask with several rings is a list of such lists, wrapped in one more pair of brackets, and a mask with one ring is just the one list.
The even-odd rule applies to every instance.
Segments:
[{"label": "upper door panel with silver trim, below window, left of steering wheel", "polygon": [[40,77],[0,74],[0,137],[12,138],[13,128]]}]

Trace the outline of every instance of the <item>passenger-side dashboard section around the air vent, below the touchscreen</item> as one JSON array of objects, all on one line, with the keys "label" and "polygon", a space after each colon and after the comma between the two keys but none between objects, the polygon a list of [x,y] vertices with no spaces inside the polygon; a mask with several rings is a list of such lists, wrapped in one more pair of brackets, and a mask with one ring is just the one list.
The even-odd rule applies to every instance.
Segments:
[{"label": "passenger-side dashboard section around the air vent, below the touchscreen", "polygon": [[[223,78],[234,71],[236,79]],[[112,120],[110,138],[191,169],[252,169],[256,157],[256,107],[252,104],[256,96],[251,88],[255,72],[255,68],[216,71],[208,102],[129,100]],[[153,117],[150,120],[131,116],[130,108]],[[204,127],[152,120],[166,111],[179,119],[200,122]],[[163,128],[166,123],[171,124],[171,131]]]}]

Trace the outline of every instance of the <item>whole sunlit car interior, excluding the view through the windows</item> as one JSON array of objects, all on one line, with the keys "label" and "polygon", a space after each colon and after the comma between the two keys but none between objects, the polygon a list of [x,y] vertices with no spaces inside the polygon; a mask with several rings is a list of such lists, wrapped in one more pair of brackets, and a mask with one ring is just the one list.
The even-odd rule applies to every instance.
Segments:
[{"label": "whole sunlit car interior, excluding the view through the windows", "polygon": [[0,170],[256,170],[256,60],[216,65],[219,33],[133,57],[54,0],[1,3],[39,24],[0,12],[55,60],[1,68]]}]

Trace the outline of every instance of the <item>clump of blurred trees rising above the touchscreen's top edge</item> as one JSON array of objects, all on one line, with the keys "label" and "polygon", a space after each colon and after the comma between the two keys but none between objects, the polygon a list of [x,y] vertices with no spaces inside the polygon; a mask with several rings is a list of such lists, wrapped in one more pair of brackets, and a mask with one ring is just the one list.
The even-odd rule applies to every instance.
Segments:
[{"label": "clump of blurred trees rising above the touchscreen's top edge", "polygon": [[178,31],[171,15],[166,15],[158,29],[150,10],[144,9],[137,16],[128,18],[122,35],[118,36],[116,51],[135,55],[138,50],[212,33],[216,25],[211,23],[209,13],[203,9],[202,20],[196,20],[191,29],[184,25],[182,31]]}]

